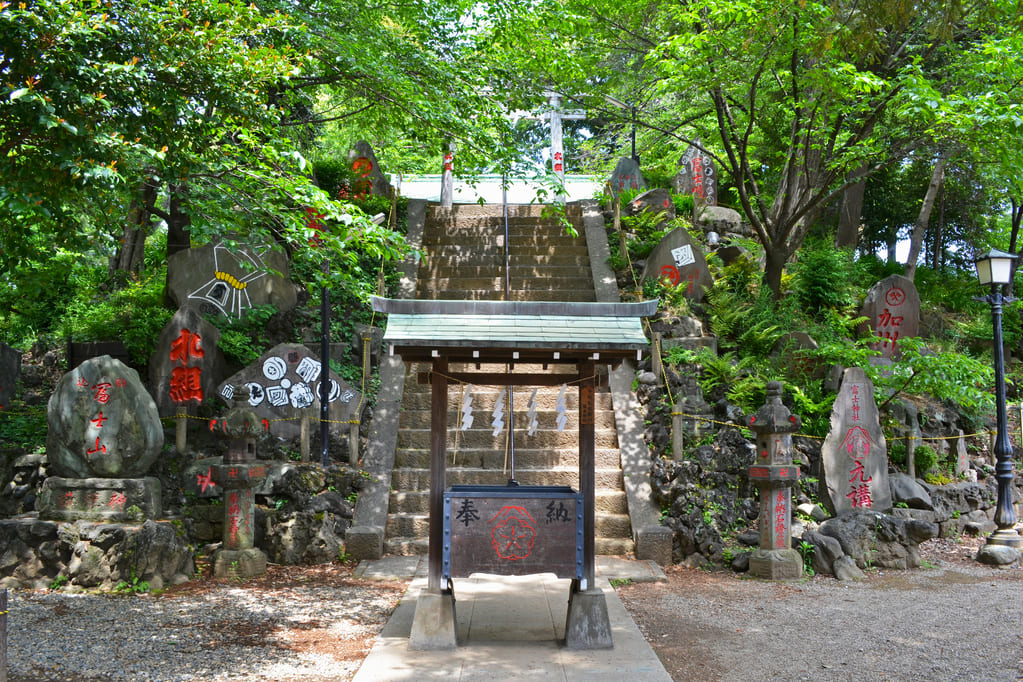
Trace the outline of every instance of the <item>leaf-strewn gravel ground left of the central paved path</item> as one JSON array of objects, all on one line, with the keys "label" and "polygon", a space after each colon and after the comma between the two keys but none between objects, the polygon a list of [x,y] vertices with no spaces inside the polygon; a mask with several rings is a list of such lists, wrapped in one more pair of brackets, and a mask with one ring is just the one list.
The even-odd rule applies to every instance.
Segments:
[{"label": "leaf-strewn gravel ground left of the central paved path", "polygon": [[8,680],[351,679],[406,586],[326,564],[159,596],[16,591]]}]

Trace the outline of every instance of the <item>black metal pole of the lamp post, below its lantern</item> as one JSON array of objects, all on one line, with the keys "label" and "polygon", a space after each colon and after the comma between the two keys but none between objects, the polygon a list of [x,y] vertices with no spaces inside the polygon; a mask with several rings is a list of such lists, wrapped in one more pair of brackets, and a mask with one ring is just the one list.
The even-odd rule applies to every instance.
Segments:
[{"label": "black metal pole of the lamp post, below its lantern", "polygon": [[992,284],[987,297],[991,304],[991,323],[994,326],[994,392],[996,398],[997,436],[994,440],[994,478],[998,481],[998,498],[994,510],[994,524],[998,527],[987,539],[989,545],[1020,547],[1023,538],[1016,532],[1016,509],[1013,506],[1013,446],[1009,442],[1009,419],[1006,412],[1006,359],[1002,342],[1000,285]]}]

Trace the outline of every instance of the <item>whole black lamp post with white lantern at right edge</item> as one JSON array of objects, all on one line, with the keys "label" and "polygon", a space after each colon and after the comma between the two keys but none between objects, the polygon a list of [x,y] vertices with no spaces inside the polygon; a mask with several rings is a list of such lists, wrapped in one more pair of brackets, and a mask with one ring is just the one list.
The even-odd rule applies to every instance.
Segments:
[{"label": "whole black lamp post with white lantern at right edge", "polygon": [[[1013,254],[992,248],[978,256],[974,264],[981,284],[990,284],[991,292],[978,297],[991,306],[991,322],[994,325],[994,393],[997,408],[997,434],[994,440],[994,478],[998,482],[998,499],[994,511],[997,530],[987,539],[987,547],[1023,547],[1023,538],[1016,532],[1016,509],[1013,507],[1013,446],[1009,442],[1008,418],[1006,415],[1006,359],[1002,344],[1002,305],[1015,301],[1002,294],[1002,286],[1012,281]],[[981,548],[981,554],[985,548]],[[978,558],[983,558],[978,554]]]}]

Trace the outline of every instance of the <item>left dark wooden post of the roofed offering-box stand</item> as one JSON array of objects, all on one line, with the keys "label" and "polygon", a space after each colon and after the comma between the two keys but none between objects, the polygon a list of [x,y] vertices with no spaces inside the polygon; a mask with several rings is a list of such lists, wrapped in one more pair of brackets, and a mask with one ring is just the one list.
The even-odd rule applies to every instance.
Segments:
[{"label": "left dark wooden post of the roofed offering-box stand", "polygon": [[444,465],[447,458],[447,360],[436,358],[430,383],[430,577],[427,589],[441,591],[444,561]]}]

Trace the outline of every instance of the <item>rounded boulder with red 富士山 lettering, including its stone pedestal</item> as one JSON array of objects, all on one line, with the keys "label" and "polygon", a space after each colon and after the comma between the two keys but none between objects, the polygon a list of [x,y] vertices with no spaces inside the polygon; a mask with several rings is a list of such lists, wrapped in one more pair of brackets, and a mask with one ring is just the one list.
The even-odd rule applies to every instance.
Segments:
[{"label": "rounded boulder with red \u5bcc\u58eb\u5c71 lettering, including its stone pedestal", "polygon": [[160,481],[145,473],[164,446],[157,405],[138,372],[109,356],[63,375],[47,410],[50,475],[42,518],[132,520],[163,511]]}]

